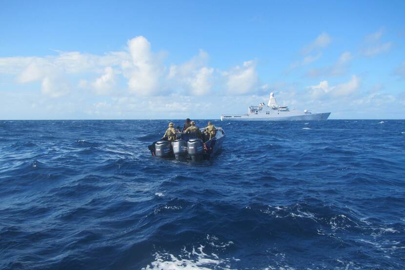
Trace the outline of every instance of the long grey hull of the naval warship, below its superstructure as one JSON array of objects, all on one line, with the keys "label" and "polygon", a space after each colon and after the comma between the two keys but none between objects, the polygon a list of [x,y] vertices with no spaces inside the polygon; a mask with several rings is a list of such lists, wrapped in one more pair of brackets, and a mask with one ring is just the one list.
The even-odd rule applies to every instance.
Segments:
[{"label": "long grey hull of the naval warship, below its superstructure", "polygon": [[222,121],[324,121],[328,119],[330,112],[312,113],[292,116],[261,117],[258,115],[221,115]]}]

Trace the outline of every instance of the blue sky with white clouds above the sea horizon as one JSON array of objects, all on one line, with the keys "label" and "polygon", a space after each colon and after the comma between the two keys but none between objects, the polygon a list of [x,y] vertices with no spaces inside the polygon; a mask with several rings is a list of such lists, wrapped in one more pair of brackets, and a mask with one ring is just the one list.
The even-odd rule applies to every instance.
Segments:
[{"label": "blue sky with white clouds above the sea horizon", "polygon": [[0,119],[405,119],[405,1],[0,1]]}]

